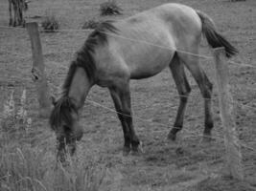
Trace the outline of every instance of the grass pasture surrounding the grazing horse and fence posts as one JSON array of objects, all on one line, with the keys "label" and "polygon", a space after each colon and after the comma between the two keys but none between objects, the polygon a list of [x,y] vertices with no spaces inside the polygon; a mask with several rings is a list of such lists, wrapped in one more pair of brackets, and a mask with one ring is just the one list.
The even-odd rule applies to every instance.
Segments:
[{"label": "grass pasture surrounding the grazing horse and fence posts", "polygon": [[[167,0],[117,0],[123,9],[118,16],[100,16],[104,0],[34,0],[26,13],[27,21],[54,14],[60,29],[78,30],[89,19],[119,20]],[[234,96],[235,120],[242,147],[244,181],[224,177],[224,143],[219,116],[214,62],[200,63],[215,84],[213,111],[216,139],[202,143],[203,102],[198,86],[190,77],[193,92],[189,99],[184,130],[176,142],[166,140],[173,126],[178,105],[174,80],[168,70],[152,78],[131,82],[134,125],[143,141],[145,153],[123,157],[123,132],[116,115],[105,108],[85,102],[81,114],[84,136],[77,154],[64,168],[56,162],[56,138],[48,120],[37,117],[35,85],[31,80],[31,45],[22,28],[0,27],[0,112],[12,91],[15,108],[0,128],[0,190],[122,190],[122,191],[250,191],[256,190],[256,1],[175,0],[204,11],[240,53],[229,64],[230,85]],[[0,1],[0,26],[8,27],[8,1]],[[74,53],[85,41],[88,31],[40,33],[46,74],[51,92],[59,87]],[[211,56],[206,42],[200,54]],[[253,67],[243,67],[249,64]],[[15,115],[23,106],[31,122]],[[113,109],[107,90],[95,87],[88,96]],[[142,120],[143,119],[143,120]],[[220,138],[221,137],[221,138]]]}]

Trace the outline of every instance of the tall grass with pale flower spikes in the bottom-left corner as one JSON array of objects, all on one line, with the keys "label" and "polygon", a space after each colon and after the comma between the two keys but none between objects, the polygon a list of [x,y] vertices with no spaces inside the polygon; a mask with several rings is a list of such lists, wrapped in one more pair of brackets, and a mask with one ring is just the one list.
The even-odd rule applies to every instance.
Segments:
[{"label": "tall grass with pale flower spikes in the bottom-left corner", "polygon": [[[105,166],[94,159],[56,160],[55,138],[28,123],[26,90],[15,107],[14,91],[4,103],[0,128],[0,190],[97,191],[105,179]],[[15,109],[18,108],[18,109]],[[32,122],[32,121],[31,121]]]}]

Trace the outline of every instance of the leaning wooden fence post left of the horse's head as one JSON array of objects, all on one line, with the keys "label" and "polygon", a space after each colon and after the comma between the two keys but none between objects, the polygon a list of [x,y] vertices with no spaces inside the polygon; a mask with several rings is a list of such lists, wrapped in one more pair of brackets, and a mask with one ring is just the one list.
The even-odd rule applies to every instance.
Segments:
[{"label": "leaning wooden fence post left of the horse's head", "polygon": [[37,90],[37,99],[39,102],[39,116],[49,117],[51,103],[48,92],[48,85],[46,76],[44,73],[44,61],[42,55],[42,46],[40,41],[40,36],[38,32],[38,25],[35,22],[26,24],[27,31],[31,39],[31,47],[33,54],[33,68],[32,76],[35,81],[35,86]]}]

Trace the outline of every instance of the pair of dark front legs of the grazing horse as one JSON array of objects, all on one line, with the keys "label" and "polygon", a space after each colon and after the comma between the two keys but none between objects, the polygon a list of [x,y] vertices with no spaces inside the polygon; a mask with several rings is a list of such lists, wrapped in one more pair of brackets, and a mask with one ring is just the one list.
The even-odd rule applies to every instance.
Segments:
[{"label": "pair of dark front legs of the grazing horse", "polygon": [[113,98],[115,108],[118,114],[118,117],[121,121],[125,144],[124,144],[124,155],[128,155],[130,147],[132,151],[139,151],[138,147],[140,144],[139,138],[137,138],[133,123],[132,123],[132,114],[131,114],[131,104],[130,104],[130,92],[128,83],[115,86],[109,89],[110,95]]}]

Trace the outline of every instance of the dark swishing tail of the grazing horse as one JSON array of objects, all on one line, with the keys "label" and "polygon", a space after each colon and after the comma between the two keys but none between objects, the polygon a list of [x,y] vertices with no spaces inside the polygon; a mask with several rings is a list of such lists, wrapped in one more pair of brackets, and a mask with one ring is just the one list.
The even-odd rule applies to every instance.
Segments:
[{"label": "dark swishing tail of the grazing horse", "polygon": [[207,14],[201,11],[197,11],[197,13],[202,23],[202,33],[212,48],[224,47],[227,57],[238,53],[238,50],[217,32],[213,20]]}]

